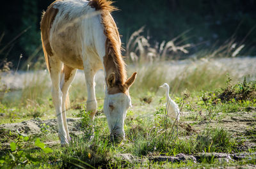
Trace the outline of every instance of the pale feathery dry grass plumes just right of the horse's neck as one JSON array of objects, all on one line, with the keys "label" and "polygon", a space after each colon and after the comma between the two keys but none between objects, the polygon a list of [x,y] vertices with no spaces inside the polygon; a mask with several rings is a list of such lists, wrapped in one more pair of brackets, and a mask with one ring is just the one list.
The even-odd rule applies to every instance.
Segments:
[{"label": "pale feathery dry grass plumes just right of the horse's neck", "polygon": [[150,44],[149,36],[142,35],[143,30],[144,27],[141,27],[138,31],[132,33],[126,45],[126,55],[133,64],[164,61],[173,59],[173,57],[179,58],[180,55],[189,53],[188,48],[191,47],[191,44],[184,44],[184,40],[181,40],[182,35],[188,33],[188,31],[168,42],[162,41],[161,43]]}]

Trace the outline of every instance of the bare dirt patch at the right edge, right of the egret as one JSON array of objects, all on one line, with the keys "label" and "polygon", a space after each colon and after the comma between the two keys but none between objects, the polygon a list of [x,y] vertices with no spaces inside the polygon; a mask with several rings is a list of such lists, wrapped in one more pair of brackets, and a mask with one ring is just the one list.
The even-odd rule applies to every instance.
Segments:
[{"label": "bare dirt patch at the right edge, right of the egret", "polygon": [[[238,140],[243,140],[241,143],[241,151],[246,151],[249,148],[256,148],[256,112],[236,112],[227,114],[225,117],[216,117],[211,121],[186,121],[179,125],[180,128],[185,129],[186,132],[194,133],[193,131],[203,131],[205,128],[221,127],[228,131],[231,136]],[[188,115],[188,114],[187,114]],[[218,120],[220,118],[220,120]],[[188,126],[193,129],[188,130]]]}]

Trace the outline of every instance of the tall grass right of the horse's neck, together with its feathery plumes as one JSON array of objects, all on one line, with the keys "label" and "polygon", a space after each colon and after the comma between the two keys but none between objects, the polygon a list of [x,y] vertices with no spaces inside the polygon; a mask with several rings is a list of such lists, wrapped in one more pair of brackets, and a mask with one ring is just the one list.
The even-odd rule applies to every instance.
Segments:
[{"label": "tall grass right of the horse's neck, together with its feathery plumes", "polygon": [[[196,45],[186,43],[182,37],[185,31],[168,42],[150,43],[149,36],[143,36],[144,27],[131,34],[127,42],[126,55],[128,72],[138,71],[131,87],[133,94],[141,91],[156,92],[164,82],[172,87],[172,92],[214,90],[225,85],[227,74],[236,82],[237,75],[232,67],[215,62],[216,57],[236,57],[243,49],[243,41],[238,43],[234,35],[220,47],[212,47],[189,56],[189,48]],[[186,61],[174,61],[184,57]],[[198,59],[201,58],[201,59]]]}]

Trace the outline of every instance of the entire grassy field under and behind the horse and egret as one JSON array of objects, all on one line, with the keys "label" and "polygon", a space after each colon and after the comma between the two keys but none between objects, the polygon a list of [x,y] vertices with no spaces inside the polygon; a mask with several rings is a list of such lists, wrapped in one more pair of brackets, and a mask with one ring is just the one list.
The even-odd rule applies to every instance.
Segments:
[{"label": "entire grassy field under and behind the horse and egret", "polygon": [[[72,142],[61,147],[47,71],[1,73],[1,168],[255,168],[255,57],[129,64],[138,71],[125,140],[111,142],[103,113],[104,75],[96,76],[98,112],[86,113],[77,73],[67,111]],[[178,103],[178,124],[165,115],[164,82]]]}]

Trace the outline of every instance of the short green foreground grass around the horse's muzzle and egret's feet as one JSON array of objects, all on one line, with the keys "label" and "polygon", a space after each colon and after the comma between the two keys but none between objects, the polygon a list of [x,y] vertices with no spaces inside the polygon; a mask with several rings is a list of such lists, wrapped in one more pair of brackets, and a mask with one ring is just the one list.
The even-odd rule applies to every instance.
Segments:
[{"label": "short green foreground grass around the horse's muzzle and egret's feet", "polygon": [[[195,94],[200,98],[202,94]],[[192,109],[191,96],[183,99],[184,110]],[[160,102],[161,102],[160,98]],[[201,98],[202,100],[202,98]],[[177,103],[182,103],[180,98],[176,99]],[[154,103],[154,102],[153,102]],[[204,101],[193,101],[196,108],[201,108],[205,112],[209,107],[205,107]],[[141,101],[141,104],[148,104]],[[228,105],[230,103],[225,103]],[[157,161],[148,161],[150,156],[177,156],[177,154],[196,154],[198,152],[237,152],[239,143],[225,128],[205,127],[201,131],[194,132],[179,126],[179,136],[177,137],[172,130],[173,121],[170,119],[164,123],[164,103],[160,103],[151,115],[140,116],[134,115],[133,111],[128,112],[125,120],[125,140],[122,143],[110,142],[106,118],[95,118],[93,123],[94,137],[91,138],[90,117],[86,112],[81,110],[78,114],[81,119],[81,127],[84,130],[83,135],[73,136],[72,143],[67,147],[59,147],[54,152],[45,155],[42,151],[33,151],[31,154],[36,158],[42,158],[40,163],[29,163],[26,168],[161,168],[161,167],[189,167],[196,168],[200,166],[226,166],[226,165],[244,165],[254,164],[253,161],[239,163],[220,163],[215,159],[200,159],[200,163],[195,165],[193,161],[186,163],[166,163]],[[191,106],[190,108],[188,106]],[[216,105],[213,105],[216,107]],[[195,110],[194,111],[198,111]],[[217,110],[216,110],[217,111]],[[136,112],[140,114],[143,112]],[[225,112],[227,113],[227,112]],[[214,116],[214,115],[212,115]],[[182,117],[182,121],[188,121],[190,117]],[[204,117],[200,116],[195,121],[202,121]],[[47,130],[47,126],[42,126],[42,130]],[[248,132],[248,133],[253,133]],[[49,133],[44,132],[47,136]],[[253,133],[254,135],[254,133]],[[42,137],[42,136],[40,136]],[[251,150],[252,151],[252,150]],[[129,154],[131,158],[125,158],[122,154]],[[22,165],[20,165],[21,167]],[[19,167],[18,167],[19,168]],[[23,168],[23,167],[22,167]]]}]

